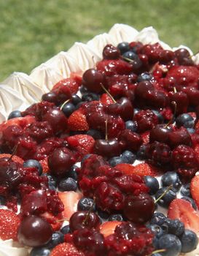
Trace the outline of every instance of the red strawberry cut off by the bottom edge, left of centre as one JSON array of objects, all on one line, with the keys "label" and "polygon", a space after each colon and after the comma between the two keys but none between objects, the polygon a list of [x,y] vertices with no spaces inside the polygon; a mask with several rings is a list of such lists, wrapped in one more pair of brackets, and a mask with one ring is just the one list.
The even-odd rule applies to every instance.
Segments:
[{"label": "red strawberry cut off by the bottom edge, left of centre", "polygon": [[55,246],[50,253],[50,256],[84,256],[73,244],[62,243]]}]

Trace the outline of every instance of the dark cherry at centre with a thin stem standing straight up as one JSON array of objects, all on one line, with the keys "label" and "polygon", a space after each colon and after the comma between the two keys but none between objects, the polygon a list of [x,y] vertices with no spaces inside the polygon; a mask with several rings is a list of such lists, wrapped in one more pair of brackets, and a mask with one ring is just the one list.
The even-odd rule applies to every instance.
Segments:
[{"label": "dark cherry at centre with a thin stem standing straight up", "polygon": [[121,153],[120,143],[116,139],[95,140],[94,153],[103,157],[116,157]]}]

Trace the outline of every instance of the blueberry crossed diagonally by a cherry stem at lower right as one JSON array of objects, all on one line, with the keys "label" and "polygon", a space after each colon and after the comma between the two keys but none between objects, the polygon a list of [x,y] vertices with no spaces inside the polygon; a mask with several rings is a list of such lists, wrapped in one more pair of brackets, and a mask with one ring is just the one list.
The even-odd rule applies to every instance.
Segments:
[{"label": "blueberry crossed diagonally by a cherry stem at lower right", "polygon": [[[168,187],[162,187],[161,189],[157,190],[155,193],[155,198],[159,198],[163,193],[168,189]],[[176,192],[174,192],[172,189],[169,189],[168,192],[165,193],[165,195],[157,201],[157,203],[160,206],[168,207],[171,201],[176,198]]]}]

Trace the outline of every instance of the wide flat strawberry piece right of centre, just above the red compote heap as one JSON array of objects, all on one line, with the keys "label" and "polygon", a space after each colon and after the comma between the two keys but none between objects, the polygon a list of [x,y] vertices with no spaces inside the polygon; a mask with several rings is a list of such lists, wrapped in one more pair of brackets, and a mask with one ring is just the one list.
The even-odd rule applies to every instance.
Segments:
[{"label": "wide flat strawberry piece right of centre, just above the red compote heap", "polygon": [[143,162],[136,166],[130,164],[118,164],[115,166],[117,170],[121,170],[122,173],[126,175],[136,174],[138,176],[157,176],[160,171],[157,168],[152,167],[152,165]]}]

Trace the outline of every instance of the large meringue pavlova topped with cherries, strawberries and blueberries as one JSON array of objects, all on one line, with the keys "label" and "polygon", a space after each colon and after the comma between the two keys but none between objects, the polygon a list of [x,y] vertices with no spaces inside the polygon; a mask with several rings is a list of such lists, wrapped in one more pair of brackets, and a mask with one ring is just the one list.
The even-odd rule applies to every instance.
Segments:
[{"label": "large meringue pavlova topped with cherries, strawberries and blueberries", "polygon": [[199,255],[199,54],[115,24],[0,83],[0,256]]}]

